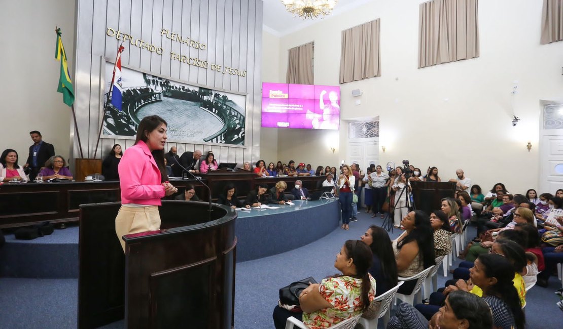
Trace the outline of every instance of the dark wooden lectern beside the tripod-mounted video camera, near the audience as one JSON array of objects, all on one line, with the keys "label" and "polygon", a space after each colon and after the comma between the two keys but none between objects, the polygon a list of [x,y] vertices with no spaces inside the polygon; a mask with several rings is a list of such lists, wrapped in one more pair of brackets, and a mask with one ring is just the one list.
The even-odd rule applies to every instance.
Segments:
[{"label": "dark wooden lectern beside the tripod-mounted video camera, near the audience", "polygon": [[430,215],[435,210],[440,210],[442,199],[453,198],[455,192],[454,182],[410,182],[414,199],[414,207]]}]

